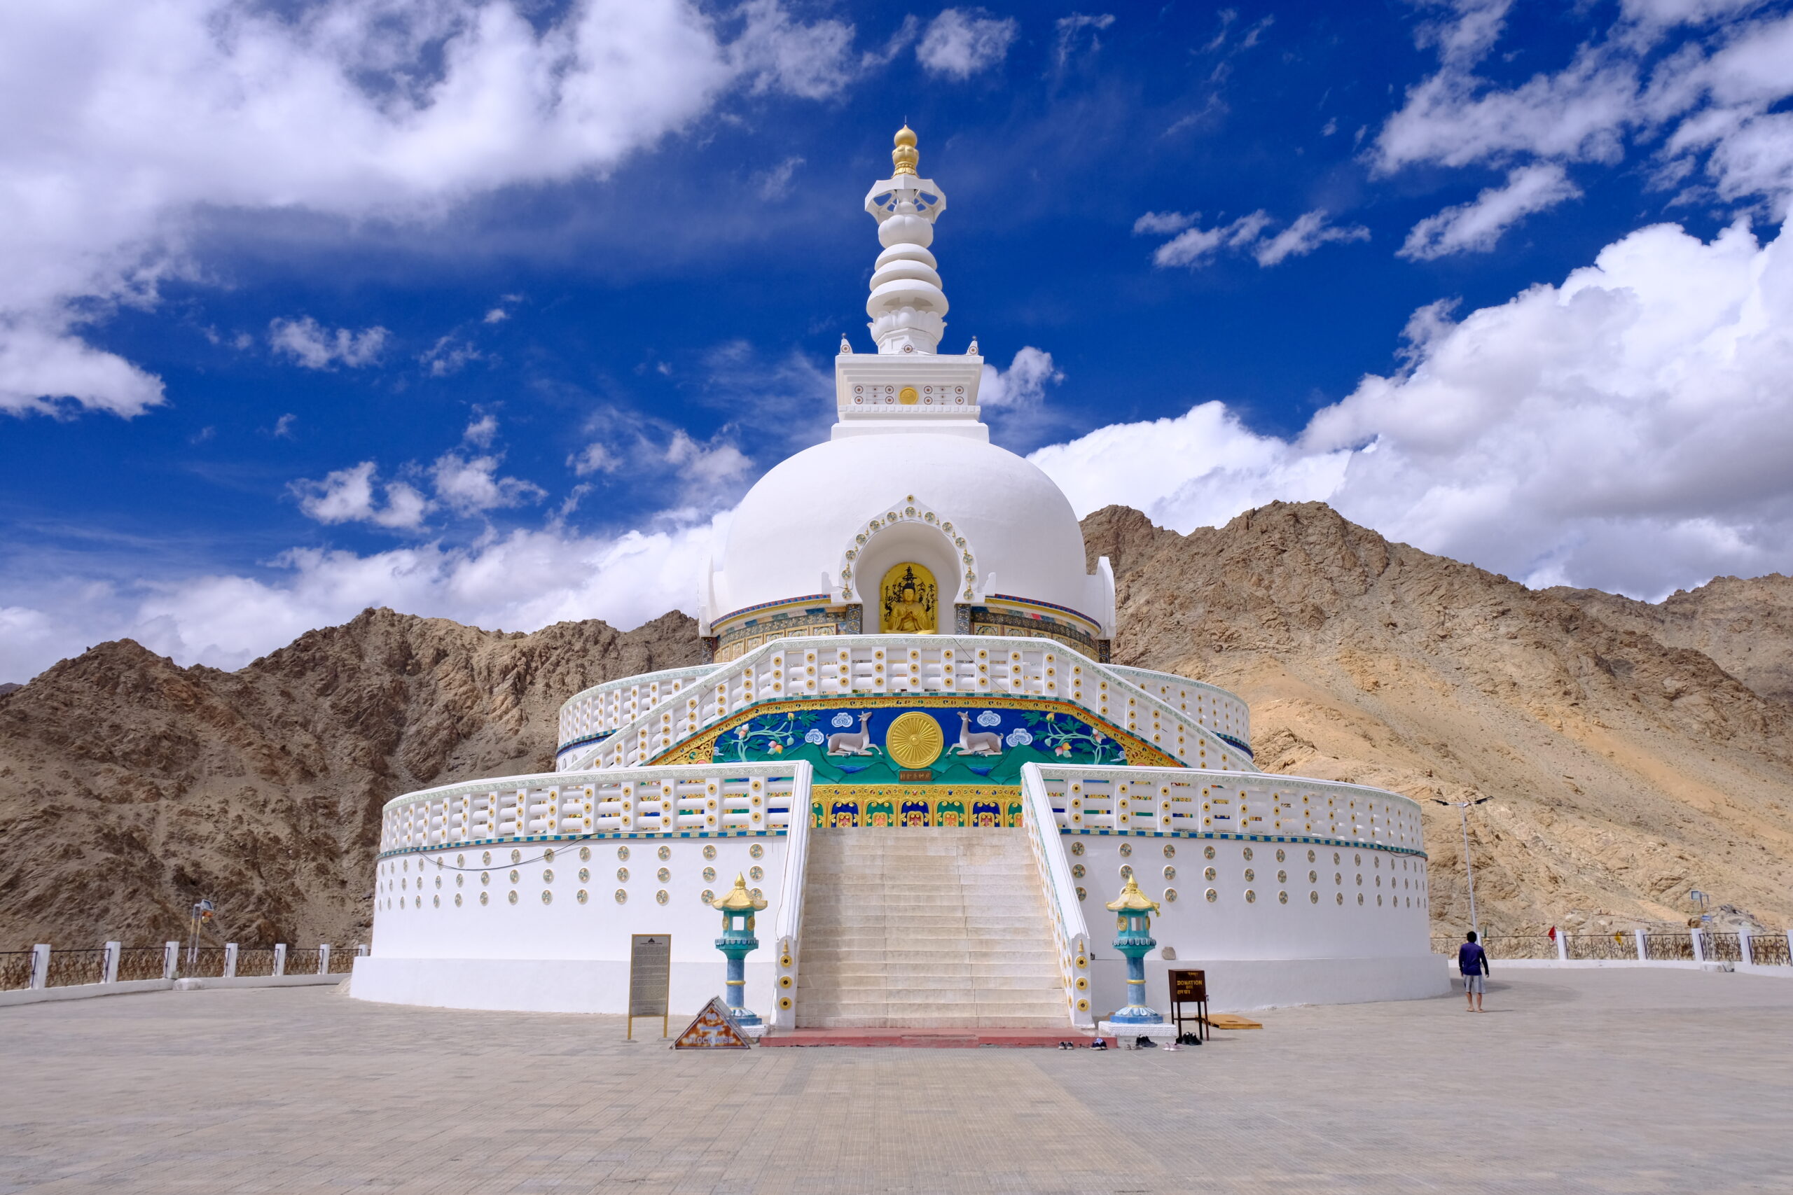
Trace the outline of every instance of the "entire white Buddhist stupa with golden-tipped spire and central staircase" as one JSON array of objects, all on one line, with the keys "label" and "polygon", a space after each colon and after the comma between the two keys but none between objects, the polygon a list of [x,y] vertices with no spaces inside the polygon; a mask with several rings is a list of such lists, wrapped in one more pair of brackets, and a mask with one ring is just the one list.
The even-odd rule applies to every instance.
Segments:
[{"label": "entire white Buddhist stupa with golden-tipped spire and central staircase", "polygon": [[1413,801],[1260,772],[1237,697],[1108,661],[1108,561],[990,443],[975,340],[940,351],[947,199],[907,127],[891,158],[877,351],[843,337],[830,439],[760,478],[705,570],[712,663],[572,695],[554,772],[391,801],[353,996],[622,1012],[631,935],[669,935],[696,1012],[737,876],[775,1034],[1092,1027],[1128,1003],[1104,908],[1128,880],[1160,1010],[1169,967],[1221,1009],[1447,991]]}]

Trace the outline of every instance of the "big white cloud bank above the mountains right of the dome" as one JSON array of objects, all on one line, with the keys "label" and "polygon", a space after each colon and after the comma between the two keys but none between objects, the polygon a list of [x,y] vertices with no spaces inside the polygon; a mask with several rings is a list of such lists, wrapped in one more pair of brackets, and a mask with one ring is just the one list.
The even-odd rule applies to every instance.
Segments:
[{"label": "big white cloud bank above the mountains right of the dome", "polygon": [[1126,502],[1189,530],[1318,498],[1529,584],[1653,598],[1793,566],[1793,229],[1644,228],[1562,285],[1445,310],[1293,441],[1203,403],[1033,459],[1079,514]]}]

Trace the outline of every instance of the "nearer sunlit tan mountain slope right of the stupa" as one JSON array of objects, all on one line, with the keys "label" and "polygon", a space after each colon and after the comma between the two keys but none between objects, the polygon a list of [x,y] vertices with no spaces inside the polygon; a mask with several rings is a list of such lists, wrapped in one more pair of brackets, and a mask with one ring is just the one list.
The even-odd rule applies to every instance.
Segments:
[{"label": "nearer sunlit tan mountain slope right of the stupa", "polygon": [[[1689,887],[1793,917],[1793,711],[1705,654],[1320,503],[1191,536],[1108,507],[1085,536],[1117,561],[1115,659],[1237,692],[1260,767],[1492,797],[1470,815],[1485,926],[1682,919]],[[1458,813],[1424,808],[1433,917],[1456,930]]]}]

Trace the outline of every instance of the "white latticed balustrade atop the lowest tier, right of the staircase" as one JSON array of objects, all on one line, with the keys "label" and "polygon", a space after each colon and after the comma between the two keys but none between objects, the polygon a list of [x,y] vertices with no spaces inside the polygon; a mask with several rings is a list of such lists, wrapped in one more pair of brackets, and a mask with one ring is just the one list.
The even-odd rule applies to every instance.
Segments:
[{"label": "white latticed balustrade atop the lowest tier, right of the staircase", "polygon": [[1382,788],[1275,772],[1038,769],[1065,830],[1269,835],[1424,851],[1418,803]]}]

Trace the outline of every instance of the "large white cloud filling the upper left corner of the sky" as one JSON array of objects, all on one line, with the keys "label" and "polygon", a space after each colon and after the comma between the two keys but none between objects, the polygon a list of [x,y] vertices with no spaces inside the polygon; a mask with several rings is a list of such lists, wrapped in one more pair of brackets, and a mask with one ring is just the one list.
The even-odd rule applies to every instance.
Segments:
[{"label": "large white cloud filling the upper left corner of the sky", "polygon": [[832,95],[852,29],[776,0],[724,43],[690,0],[0,5],[0,410],[142,414],[91,321],[152,305],[208,210],[439,219],[615,167],[732,86]]}]

